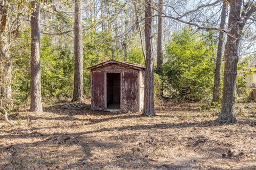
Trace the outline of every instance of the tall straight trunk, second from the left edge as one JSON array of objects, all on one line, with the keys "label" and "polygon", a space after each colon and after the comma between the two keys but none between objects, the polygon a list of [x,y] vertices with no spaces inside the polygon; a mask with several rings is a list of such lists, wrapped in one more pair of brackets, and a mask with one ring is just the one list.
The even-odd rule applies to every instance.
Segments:
[{"label": "tall straight trunk, second from the left edge", "polygon": [[40,62],[40,5],[33,1],[31,14],[30,111],[43,112],[41,97]]}]

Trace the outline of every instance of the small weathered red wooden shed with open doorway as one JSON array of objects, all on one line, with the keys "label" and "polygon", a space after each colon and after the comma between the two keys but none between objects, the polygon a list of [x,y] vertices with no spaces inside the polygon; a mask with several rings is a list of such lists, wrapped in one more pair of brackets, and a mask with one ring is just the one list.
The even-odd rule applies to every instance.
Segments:
[{"label": "small weathered red wooden shed with open doorway", "polygon": [[91,108],[95,111],[139,112],[143,108],[145,67],[109,60],[92,67]]}]

